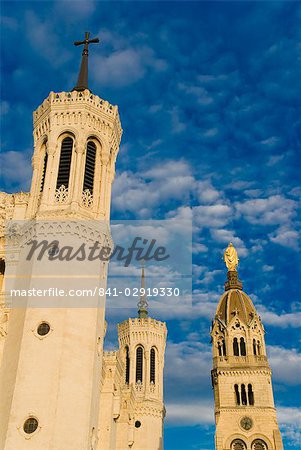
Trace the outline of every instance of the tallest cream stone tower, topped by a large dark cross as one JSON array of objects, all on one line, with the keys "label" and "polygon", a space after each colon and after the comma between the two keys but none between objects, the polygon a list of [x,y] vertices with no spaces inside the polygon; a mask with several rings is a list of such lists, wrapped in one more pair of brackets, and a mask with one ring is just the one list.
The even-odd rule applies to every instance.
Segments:
[{"label": "tallest cream stone tower, topped by a large dark cross", "polygon": [[[0,448],[5,450],[95,450],[97,445],[105,328],[105,298],[97,287],[106,286],[107,262],[51,260],[66,243],[112,245],[111,184],[122,130],[117,106],[88,88],[88,45],[96,41],[86,33],[76,43],[84,44],[84,51],[73,91],[51,92],[33,114],[30,193],[1,197],[2,218],[23,221],[16,224],[16,245],[0,255],[8,276],[15,277],[14,288],[23,277],[26,289],[60,286],[70,292],[92,283],[96,289],[92,299],[56,298],[44,290],[42,299],[25,297],[9,313],[8,305],[2,308],[5,320],[9,315],[8,325],[7,320],[1,325]],[[33,237],[57,244],[47,247],[41,261],[22,265]]]}]

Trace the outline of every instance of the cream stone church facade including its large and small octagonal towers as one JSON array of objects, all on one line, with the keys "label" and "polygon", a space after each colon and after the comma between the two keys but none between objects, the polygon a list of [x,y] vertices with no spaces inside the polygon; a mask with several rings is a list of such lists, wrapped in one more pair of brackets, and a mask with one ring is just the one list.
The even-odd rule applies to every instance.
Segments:
[{"label": "cream stone church facade including its large and small octagonal towers", "polygon": [[[112,245],[111,185],[122,134],[117,106],[88,89],[51,92],[33,118],[30,193],[0,194],[1,271],[4,272],[5,261],[6,274],[16,280],[24,271],[20,252],[29,242],[30,233],[23,233],[22,242],[18,241],[16,253],[11,257],[4,245],[7,221],[51,223],[48,228],[47,225],[39,228],[41,239],[63,236],[62,222],[68,223],[70,235],[87,244],[91,244],[88,233],[91,221],[94,227],[99,224],[92,233],[93,239],[97,237],[99,242]],[[71,157],[69,163],[65,160],[63,167],[62,148],[66,138],[71,142]],[[93,143],[95,149],[93,183],[90,189],[83,189],[88,142]],[[69,164],[67,169],[66,164]],[[59,174],[66,179],[66,170],[68,186],[58,185]],[[90,264],[89,271],[98,286],[105,288],[107,263]],[[33,265],[30,276],[26,275],[27,286],[32,286],[34,280],[40,280],[45,274],[49,279],[50,266]],[[72,287],[73,279],[65,278],[66,285]],[[24,307],[15,308],[6,301],[3,275],[0,281],[0,448],[162,448],[165,324],[150,318],[129,319],[120,325],[119,350],[103,352],[105,298],[99,298],[89,307],[49,304],[32,307],[31,300],[25,299]],[[41,325],[49,326],[46,335],[39,334]],[[150,385],[145,372],[145,381],[137,387],[132,380],[125,381],[124,344],[121,342],[128,339],[134,351],[134,335],[139,336],[139,333],[141,339],[138,340],[145,348],[145,371],[148,370],[149,346],[156,348],[156,382]],[[131,358],[134,364],[134,357]],[[36,429],[27,432],[25,423],[35,426],[35,420]],[[138,420],[141,421],[139,428],[135,427]]]}]

